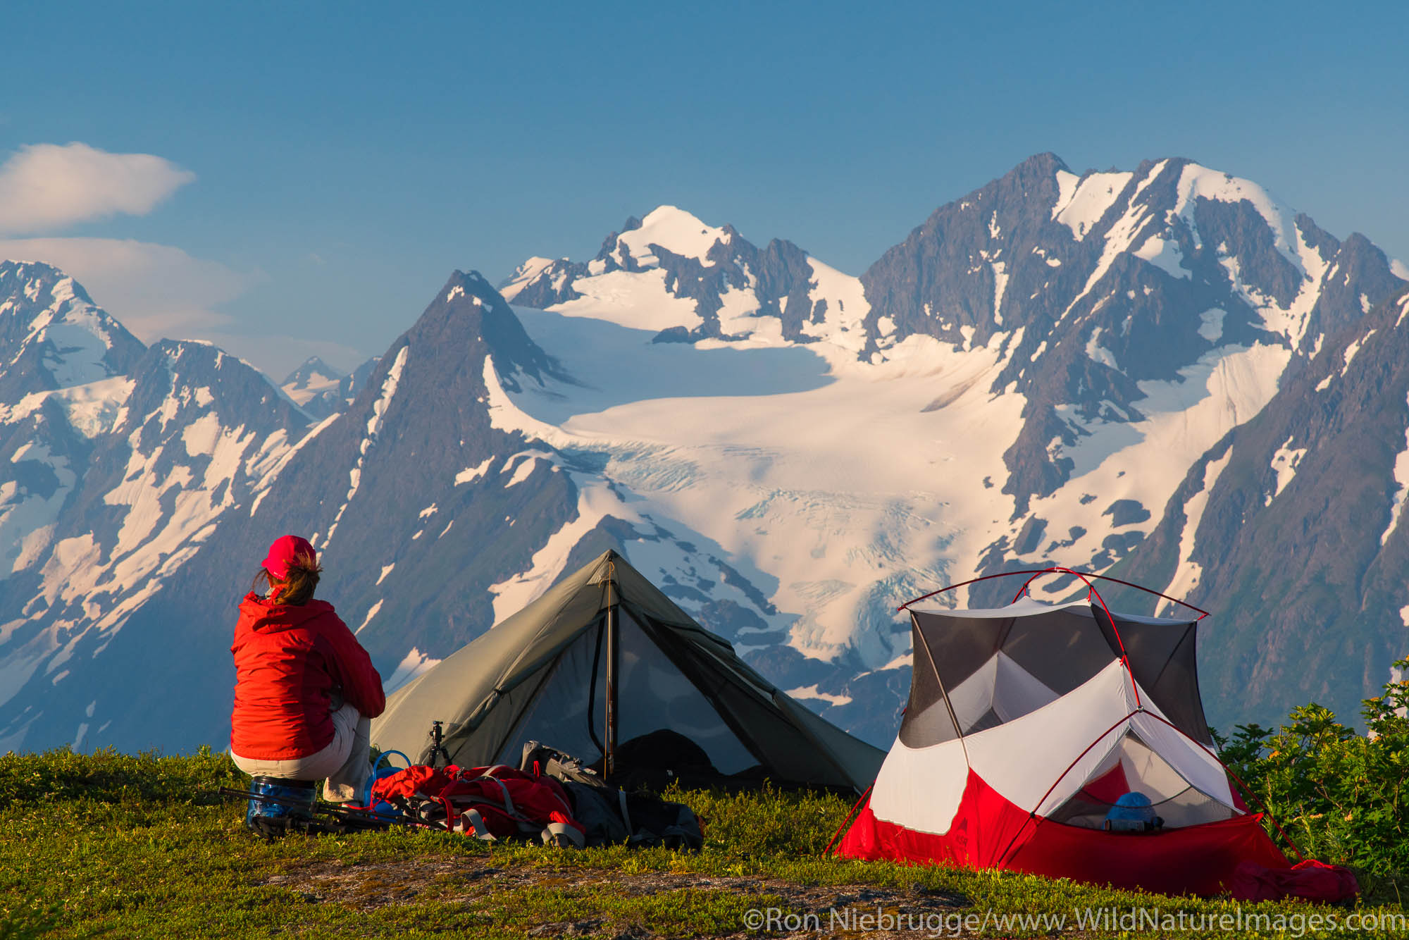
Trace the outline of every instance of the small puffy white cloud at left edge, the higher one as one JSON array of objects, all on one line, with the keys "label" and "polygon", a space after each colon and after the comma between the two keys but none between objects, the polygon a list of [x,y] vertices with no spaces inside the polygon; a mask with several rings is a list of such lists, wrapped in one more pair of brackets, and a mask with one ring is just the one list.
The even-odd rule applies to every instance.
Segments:
[{"label": "small puffy white cloud at left edge, the higher one", "polygon": [[193,179],[151,154],[108,154],[80,142],[21,147],[0,166],[0,234],[56,231],[117,213],[144,216]]}]

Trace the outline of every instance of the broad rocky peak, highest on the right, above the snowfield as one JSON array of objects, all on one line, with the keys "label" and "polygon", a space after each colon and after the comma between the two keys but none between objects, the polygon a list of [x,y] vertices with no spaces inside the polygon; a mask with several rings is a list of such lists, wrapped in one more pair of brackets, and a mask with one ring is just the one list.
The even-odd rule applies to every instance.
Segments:
[{"label": "broad rocky peak, highest on the right, above the snowfield", "polygon": [[[1161,386],[1147,383],[1253,348],[1305,361],[1403,283],[1382,255],[1347,245],[1189,159],[1078,176],[1038,155],[937,209],[862,275],[861,355],[916,334],[996,352],[989,393],[1026,400],[1005,454],[1020,517],[1071,479],[1086,438],[1158,410]],[[1367,271],[1348,297],[1337,271],[1357,262]],[[1258,397],[1272,390],[1275,379]]]}]

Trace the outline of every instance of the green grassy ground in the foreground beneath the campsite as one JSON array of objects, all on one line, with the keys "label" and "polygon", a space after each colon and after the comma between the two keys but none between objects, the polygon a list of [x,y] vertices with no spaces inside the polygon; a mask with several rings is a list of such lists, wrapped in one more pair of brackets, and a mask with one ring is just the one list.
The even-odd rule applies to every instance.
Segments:
[{"label": "green grassy ground in the foreground beneath the campsite", "polygon": [[[1409,936],[1405,888],[1394,878],[1374,879],[1355,909],[1240,910],[1230,901],[828,858],[823,848],[848,803],[826,795],[676,793],[706,820],[704,850],[678,854],[489,846],[410,830],[265,843],[244,830],[244,803],[214,792],[244,779],[209,754],[0,757],[0,940]],[[1084,910],[1115,922],[1084,926]],[[1231,929],[1219,923],[1224,915]],[[1327,929],[1327,917],[1344,924],[1351,915],[1399,917],[1398,929]]]}]

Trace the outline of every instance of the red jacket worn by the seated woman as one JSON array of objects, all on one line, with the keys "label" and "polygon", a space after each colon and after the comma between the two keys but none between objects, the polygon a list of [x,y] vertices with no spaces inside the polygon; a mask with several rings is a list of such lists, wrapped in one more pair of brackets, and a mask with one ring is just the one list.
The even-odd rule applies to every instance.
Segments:
[{"label": "red jacket worn by the seated woman", "polygon": [[382,676],[327,600],[276,605],[245,595],[235,624],[230,750],[256,761],[317,754],[333,743],[333,695],[366,717],[386,707]]}]

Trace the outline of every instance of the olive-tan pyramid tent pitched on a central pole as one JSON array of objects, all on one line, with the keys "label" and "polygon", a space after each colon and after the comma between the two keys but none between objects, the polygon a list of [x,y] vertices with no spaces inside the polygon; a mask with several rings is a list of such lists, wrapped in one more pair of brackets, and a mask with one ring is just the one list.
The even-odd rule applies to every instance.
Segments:
[{"label": "olive-tan pyramid tent pitched on a central pole", "polygon": [[395,692],[372,741],[430,762],[435,720],[462,767],[517,765],[537,740],[600,761],[609,779],[672,731],[737,781],[859,793],[885,758],[758,675],[614,551]]}]

